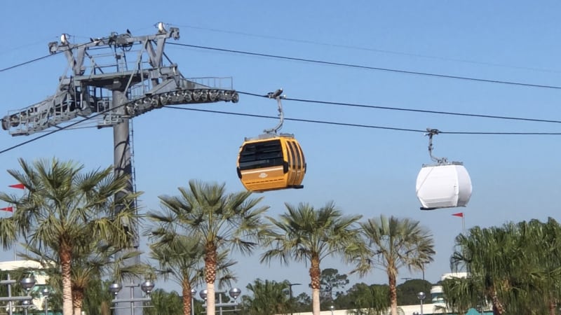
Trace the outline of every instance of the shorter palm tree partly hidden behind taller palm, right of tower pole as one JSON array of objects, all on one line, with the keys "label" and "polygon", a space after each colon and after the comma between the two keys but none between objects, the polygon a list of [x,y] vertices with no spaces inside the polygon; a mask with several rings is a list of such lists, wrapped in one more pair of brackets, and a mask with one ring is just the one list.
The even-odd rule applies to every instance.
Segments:
[{"label": "shorter palm tree partly hidden behind taller palm, right of tower pole", "polygon": [[[153,235],[159,235],[158,228]],[[191,288],[204,281],[204,246],[200,239],[194,239],[185,235],[177,235],[175,232],[162,234],[153,244],[150,244],[150,258],[157,260],[160,272],[168,279],[171,277],[182,288],[182,310],[184,315],[190,315]],[[234,260],[228,260],[228,251],[218,254],[217,272],[221,285],[229,284],[234,278],[229,267],[234,265]]]}]

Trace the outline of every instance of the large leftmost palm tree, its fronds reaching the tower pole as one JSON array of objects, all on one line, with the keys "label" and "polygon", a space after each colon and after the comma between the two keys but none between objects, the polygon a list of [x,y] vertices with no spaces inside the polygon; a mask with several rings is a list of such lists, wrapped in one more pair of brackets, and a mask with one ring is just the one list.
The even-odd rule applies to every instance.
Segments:
[{"label": "large leftmost palm tree, its fronds reaching the tower pole", "polygon": [[[9,170],[27,194],[0,193],[0,200],[14,204],[10,218],[0,219],[0,239],[9,247],[23,235],[31,248],[50,253],[60,262],[62,312],[71,315],[72,265],[76,252],[85,252],[94,241],[116,248],[130,246],[137,223],[135,209],[128,207],[136,194],[126,192],[128,178],[113,176],[112,167],[82,173],[76,162],[20,159],[22,171]],[[119,193],[119,197],[114,197]],[[119,211],[117,211],[119,209]]]}]

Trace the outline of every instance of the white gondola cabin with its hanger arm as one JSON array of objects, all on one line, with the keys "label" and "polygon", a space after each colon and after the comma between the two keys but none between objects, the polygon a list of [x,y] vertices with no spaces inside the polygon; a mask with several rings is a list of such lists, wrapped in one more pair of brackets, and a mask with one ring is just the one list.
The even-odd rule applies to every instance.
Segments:
[{"label": "white gondola cabin with its hanger arm", "polygon": [[471,198],[471,179],[461,162],[447,162],[433,157],[433,135],[438,130],[427,128],[428,154],[435,165],[423,165],[417,175],[417,198],[421,210],[465,207]]}]

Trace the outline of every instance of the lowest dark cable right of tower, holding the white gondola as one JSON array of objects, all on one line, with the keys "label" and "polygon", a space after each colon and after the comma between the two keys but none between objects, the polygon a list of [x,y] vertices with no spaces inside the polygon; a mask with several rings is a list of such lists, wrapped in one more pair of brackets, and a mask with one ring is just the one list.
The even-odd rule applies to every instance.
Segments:
[{"label": "lowest dark cable right of tower, holding the white gondola", "polygon": [[[208,109],[189,109],[186,107],[178,107],[178,106],[163,106],[164,109],[180,109],[183,111],[198,111],[203,113],[219,113],[224,115],[233,115],[233,116],[245,116],[245,117],[255,117],[255,118],[271,118],[271,119],[278,119],[277,116],[264,116],[264,115],[255,115],[255,114],[248,114],[248,113],[234,113],[229,111],[212,111]],[[300,119],[300,118],[284,118],[284,120],[292,120],[292,121],[299,121],[302,123],[318,123],[324,125],[337,125],[337,126],[347,126],[347,127],[363,127],[363,128],[371,128],[371,129],[381,129],[381,130],[394,130],[394,131],[403,131],[403,132],[424,132],[426,133],[426,129],[424,130],[417,130],[417,129],[408,129],[408,128],[397,128],[397,127],[382,127],[382,126],[374,126],[374,125],[362,125],[362,124],[353,124],[353,123],[337,123],[332,121],[325,121],[325,120],[311,120],[311,119]],[[544,135],[555,135],[560,136],[561,132],[444,132],[439,131],[440,134],[496,134],[496,135],[525,135],[525,136],[544,136]],[[0,152],[1,153],[1,152]]]}]

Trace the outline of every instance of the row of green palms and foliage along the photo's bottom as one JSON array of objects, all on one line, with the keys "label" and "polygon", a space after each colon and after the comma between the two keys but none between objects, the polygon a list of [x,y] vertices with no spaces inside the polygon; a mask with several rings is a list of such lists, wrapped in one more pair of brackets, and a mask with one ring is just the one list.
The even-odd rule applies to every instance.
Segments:
[{"label": "row of green palms and foliage along the photo's bottom", "polygon": [[[216,290],[236,279],[232,251],[260,251],[259,260],[266,264],[308,266],[309,303],[305,296],[288,302],[302,307],[311,304],[314,315],[322,309],[326,292],[333,304],[342,305],[346,297],[347,304],[355,303],[353,308],[365,314],[385,314],[389,308],[392,315],[397,315],[399,270],[420,271],[435,253],[430,231],[418,221],[384,215],[363,219],[346,214],[334,202],[319,208],[305,202],[287,202],[285,212],[272,217],[267,215],[269,207],[262,204],[263,197],[253,197],[248,191],[228,193],[223,183],[191,180],[187,187],[177,188],[175,195],[159,196],[160,209],[139,215],[135,200],[140,193],[128,191],[130,179],[114,175],[111,167],[86,171],[79,163],[53,158],[34,162],[20,159],[20,168],[8,170],[8,174],[25,186],[25,194],[0,193],[0,200],[15,207],[12,216],[0,218],[0,244],[11,248],[18,239],[25,239],[22,245],[26,253],[20,253],[20,257],[42,264],[41,272],[48,274],[48,285],[55,293],[53,297],[60,299],[63,315],[79,315],[86,308],[90,314],[109,314],[111,303],[97,302],[100,297],[107,298],[107,281],[133,277],[177,282],[181,292],[175,297],[155,290],[154,306],[165,304],[158,298],[170,299],[168,304],[171,302],[185,315],[194,307],[191,288],[204,284],[208,296],[205,311],[215,314]],[[556,305],[557,235],[548,233],[557,232],[557,223],[550,221],[546,228],[537,221],[525,224],[476,227],[468,235],[457,237],[461,250],[452,255],[452,265],[465,268],[471,276],[444,283],[449,307],[463,310],[483,299],[492,304],[495,314],[504,314],[506,309],[518,311],[517,301],[538,297],[530,293],[532,290],[541,293],[534,304],[540,301],[549,310]],[[140,237],[137,231],[149,240],[147,255],[131,249]],[[525,235],[524,239],[520,235]],[[360,276],[374,268],[383,269],[387,286],[358,283],[337,295],[333,283],[327,283],[331,288],[325,290],[328,286],[323,271],[327,269],[322,269],[321,262],[330,256],[343,258],[351,272]],[[146,257],[155,263],[140,260]],[[546,257],[548,261],[544,262]],[[516,277],[512,274],[515,271]],[[532,276],[522,281],[523,274]],[[334,281],[337,283],[337,279]],[[248,314],[287,311],[283,308],[287,302],[285,286],[257,279],[248,285],[253,294],[241,298],[243,310]],[[508,293],[513,288],[516,294]],[[264,292],[276,300],[276,309],[257,307]],[[56,305],[53,303],[53,307]],[[154,310],[159,311],[154,307],[145,312]]]}]

